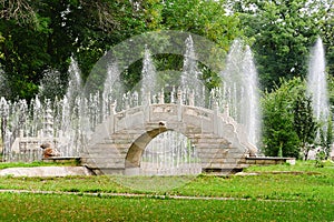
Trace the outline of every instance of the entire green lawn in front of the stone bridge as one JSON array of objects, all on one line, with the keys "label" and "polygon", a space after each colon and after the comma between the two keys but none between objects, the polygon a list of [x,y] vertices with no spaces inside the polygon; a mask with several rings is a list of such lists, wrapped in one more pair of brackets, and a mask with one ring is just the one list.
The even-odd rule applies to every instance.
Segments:
[{"label": "entire green lawn in front of the stone bridge", "polygon": [[[321,169],[313,162],[297,162],[296,165],[254,167],[246,171],[259,174],[1,176],[1,190],[66,193],[0,193],[0,221],[334,221],[332,163]],[[147,184],[156,185],[150,190]],[[112,196],[110,193],[144,196]]]}]

